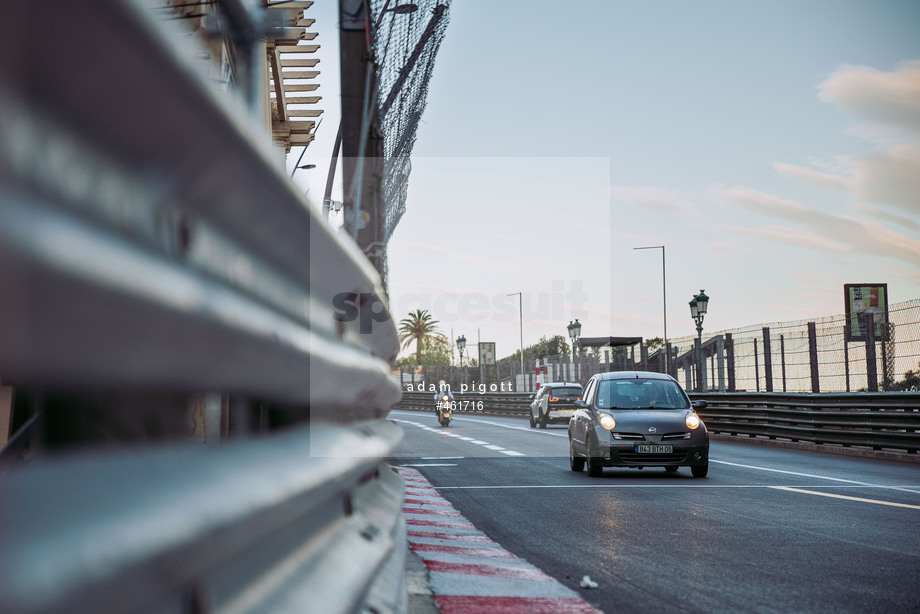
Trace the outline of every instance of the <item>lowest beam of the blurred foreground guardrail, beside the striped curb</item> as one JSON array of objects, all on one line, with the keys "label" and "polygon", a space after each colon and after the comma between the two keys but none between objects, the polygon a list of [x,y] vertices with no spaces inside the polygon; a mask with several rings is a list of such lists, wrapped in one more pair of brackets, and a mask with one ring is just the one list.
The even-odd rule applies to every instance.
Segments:
[{"label": "lowest beam of the blurred foreground guardrail, beside the striped curb", "polygon": [[379,460],[400,436],[313,427],[8,473],[2,610],[404,611],[403,482]]}]

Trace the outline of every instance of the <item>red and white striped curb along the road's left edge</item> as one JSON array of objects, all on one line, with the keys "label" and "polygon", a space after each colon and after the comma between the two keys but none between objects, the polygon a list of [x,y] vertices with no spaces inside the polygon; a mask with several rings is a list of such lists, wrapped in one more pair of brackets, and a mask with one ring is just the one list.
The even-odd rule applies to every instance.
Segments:
[{"label": "red and white striped curb along the road's left edge", "polygon": [[444,614],[599,614],[478,530],[416,469],[394,469],[406,482],[409,547],[428,567],[429,588]]}]

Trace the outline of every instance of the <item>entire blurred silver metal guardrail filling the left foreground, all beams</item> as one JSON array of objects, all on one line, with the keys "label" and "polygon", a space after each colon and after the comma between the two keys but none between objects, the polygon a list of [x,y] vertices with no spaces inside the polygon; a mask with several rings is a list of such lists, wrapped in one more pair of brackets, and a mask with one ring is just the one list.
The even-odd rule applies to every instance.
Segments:
[{"label": "entire blurred silver metal guardrail filling the left foreground, all beams", "polygon": [[[400,396],[381,280],[287,177],[252,92],[217,89],[150,5],[0,3],[0,377],[218,392],[301,422],[6,467],[0,610],[403,611],[401,480],[381,464],[399,431],[368,422]],[[337,317],[343,292],[371,330]]]}]

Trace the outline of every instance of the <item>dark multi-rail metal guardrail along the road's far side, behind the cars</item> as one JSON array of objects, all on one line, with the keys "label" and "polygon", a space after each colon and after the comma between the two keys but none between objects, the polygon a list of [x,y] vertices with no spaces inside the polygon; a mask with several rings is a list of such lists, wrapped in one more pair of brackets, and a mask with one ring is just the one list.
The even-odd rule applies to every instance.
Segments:
[{"label": "dark multi-rail metal guardrail along the road's far side, behind the cars", "polygon": [[[404,392],[397,409],[430,411],[433,393]],[[464,413],[527,415],[529,393],[456,394],[458,403],[481,401]],[[920,393],[692,393],[713,433],[787,439],[814,444],[920,451]]]}]

